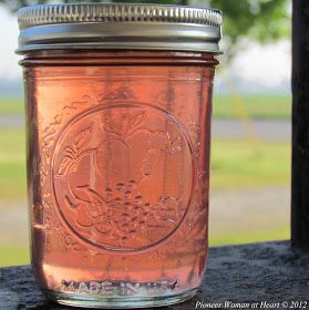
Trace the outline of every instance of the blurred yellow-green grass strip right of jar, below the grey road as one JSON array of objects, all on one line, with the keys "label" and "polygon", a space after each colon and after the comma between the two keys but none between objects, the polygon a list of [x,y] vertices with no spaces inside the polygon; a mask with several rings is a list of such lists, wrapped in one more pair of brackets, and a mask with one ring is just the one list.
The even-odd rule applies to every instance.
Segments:
[{"label": "blurred yellow-green grass strip right of jar, below the grey road", "polygon": [[287,186],[290,161],[288,142],[214,138],[210,186],[220,190]]}]

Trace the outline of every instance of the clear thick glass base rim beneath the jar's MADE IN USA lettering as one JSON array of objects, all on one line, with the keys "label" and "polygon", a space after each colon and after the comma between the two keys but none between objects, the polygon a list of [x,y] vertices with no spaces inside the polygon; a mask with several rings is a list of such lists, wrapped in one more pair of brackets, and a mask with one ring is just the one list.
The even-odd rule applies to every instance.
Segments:
[{"label": "clear thick glass base rim beneath the jar's MADE IN USA lettering", "polygon": [[197,289],[185,291],[171,296],[155,297],[126,297],[126,298],[106,298],[94,297],[79,293],[66,293],[56,291],[43,291],[45,298],[52,302],[96,309],[132,309],[132,308],[151,308],[163,307],[174,303],[184,302],[195,296]]}]

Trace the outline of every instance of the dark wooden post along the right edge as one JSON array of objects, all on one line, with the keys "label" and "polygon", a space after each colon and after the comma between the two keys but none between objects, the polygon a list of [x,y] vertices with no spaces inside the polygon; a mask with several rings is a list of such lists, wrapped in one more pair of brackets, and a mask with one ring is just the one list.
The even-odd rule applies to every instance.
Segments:
[{"label": "dark wooden post along the right edge", "polygon": [[309,1],[292,1],[291,242],[309,248]]}]

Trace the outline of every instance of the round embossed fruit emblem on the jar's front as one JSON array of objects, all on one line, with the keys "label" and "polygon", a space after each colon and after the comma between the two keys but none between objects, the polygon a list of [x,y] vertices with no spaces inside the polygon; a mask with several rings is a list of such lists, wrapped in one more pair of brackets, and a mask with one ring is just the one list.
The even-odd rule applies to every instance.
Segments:
[{"label": "round embossed fruit emblem on the jar's front", "polygon": [[181,124],[137,104],[93,108],[71,122],[53,155],[59,211],[96,247],[138,250],[182,223],[193,189],[193,156]]}]

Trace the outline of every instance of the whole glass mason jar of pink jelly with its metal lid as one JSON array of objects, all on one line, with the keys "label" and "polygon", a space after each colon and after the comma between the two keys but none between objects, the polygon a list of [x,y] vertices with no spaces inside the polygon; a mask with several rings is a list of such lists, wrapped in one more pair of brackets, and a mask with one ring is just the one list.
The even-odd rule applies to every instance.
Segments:
[{"label": "whole glass mason jar of pink jelly with its metal lid", "polygon": [[31,262],[50,300],[171,304],[207,260],[216,10],[19,11]]}]

